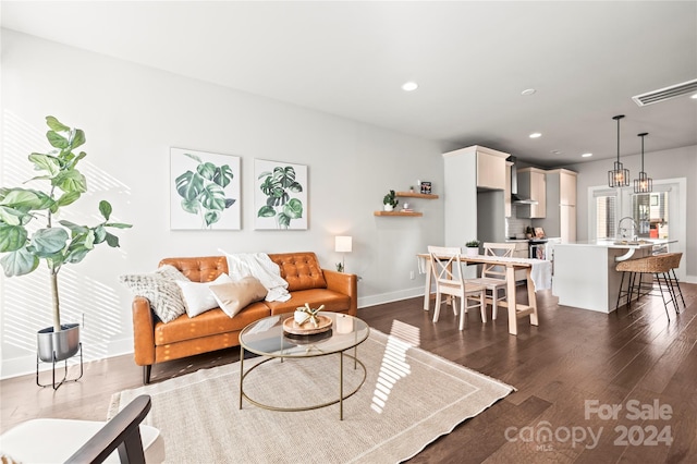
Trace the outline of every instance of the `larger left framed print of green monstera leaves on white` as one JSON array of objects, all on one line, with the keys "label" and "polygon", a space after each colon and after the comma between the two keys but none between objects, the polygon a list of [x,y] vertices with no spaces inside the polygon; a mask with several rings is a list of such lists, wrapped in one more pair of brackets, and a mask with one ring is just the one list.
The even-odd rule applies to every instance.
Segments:
[{"label": "larger left framed print of green monstera leaves on white", "polygon": [[240,157],[170,148],[170,229],[240,230]]}]

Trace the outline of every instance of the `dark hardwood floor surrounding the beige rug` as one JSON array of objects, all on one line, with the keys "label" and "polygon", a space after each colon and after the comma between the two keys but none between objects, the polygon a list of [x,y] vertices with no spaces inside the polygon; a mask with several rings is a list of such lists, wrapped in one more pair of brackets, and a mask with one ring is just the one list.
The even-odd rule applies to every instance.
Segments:
[{"label": "dark hardwood floor surrounding the beige rug", "polygon": [[[687,307],[677,316],[670,308],[670,322],[656,296],[604,315],[559,306],[540,292],[539,327],[522,319],[517,337],[508,333],[503,313],[486,323],[470,313],[458,331],[443,307],[433,323],[423,298],[363,308],[358,316],[386,333],[412,326],[421,349],[517,389],[412,463],[694,463],[697,285],[681,286]],[[166,363],[154,367],[152,380],[237,358],[231,349]],[[140,373],[131,356],[119,356],[88,363],[81,381],[56,392],[36,387],[33,375],[3,380],[0,429],[32,417],[103,420],[111,394],[140,386]]]}]

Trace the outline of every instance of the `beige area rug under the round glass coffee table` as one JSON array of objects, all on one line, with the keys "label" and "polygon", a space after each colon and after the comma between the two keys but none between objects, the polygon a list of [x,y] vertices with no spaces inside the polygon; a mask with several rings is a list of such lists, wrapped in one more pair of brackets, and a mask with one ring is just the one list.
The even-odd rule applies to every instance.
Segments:
[{"label": "beige area rug under the round glass coffee table", "polygon": [[[318,346],[321,346],[318,344]],[[367,378],[356,394],[308,412],[274,412],[246,400],[240,363],[117,393],[110,417],[139,394],[152,398],[145,424],[160,429],[168,463],[393,463],[421,451],[514,389],[371,329],[358,346]],[[260,358],[245,359],[245,371]],[[344,391],[363,371],[344,359]],[[245,378],[245,393],[279,406],[338,398],[339,357],[273,359]]]}]

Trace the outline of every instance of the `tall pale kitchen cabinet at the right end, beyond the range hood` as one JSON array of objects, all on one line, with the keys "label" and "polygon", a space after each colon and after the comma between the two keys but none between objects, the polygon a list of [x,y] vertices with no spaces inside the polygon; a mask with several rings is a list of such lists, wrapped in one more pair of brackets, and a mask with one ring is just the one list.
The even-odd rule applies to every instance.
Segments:
[{"label": "tall pale kitchen cabinet at the right end, beyond the range hood", "polygon": [[547,216],[535,221],[547,236],[562,243],[576,241],[576,173],[566,169],[547,171]]}]

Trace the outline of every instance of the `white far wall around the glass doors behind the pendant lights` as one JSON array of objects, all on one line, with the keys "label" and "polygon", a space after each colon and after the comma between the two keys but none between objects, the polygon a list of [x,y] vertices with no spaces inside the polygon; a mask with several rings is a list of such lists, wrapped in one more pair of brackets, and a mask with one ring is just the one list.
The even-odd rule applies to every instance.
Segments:
[{"label": "white far wall around the glass doors behind the pendant lights", "polygon": [[[638,176],[641,166],[639,155],[623,156],[621,161],[629,170],[632,179]],[[579,241],[588,240],[588,188],[607,185],[608,171],[612,169],[612,162],[600,160],[565,167],[578,172],[576,210]],[[687,241],[683,259],[686,264],[686,280],[697,283],[697,146],[646,152],[644,170],[653,182],[660,179],[687,180]]]}]

